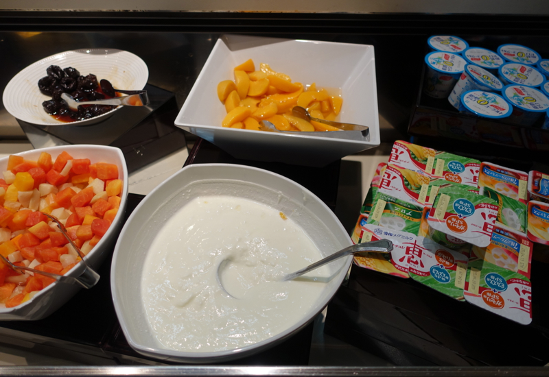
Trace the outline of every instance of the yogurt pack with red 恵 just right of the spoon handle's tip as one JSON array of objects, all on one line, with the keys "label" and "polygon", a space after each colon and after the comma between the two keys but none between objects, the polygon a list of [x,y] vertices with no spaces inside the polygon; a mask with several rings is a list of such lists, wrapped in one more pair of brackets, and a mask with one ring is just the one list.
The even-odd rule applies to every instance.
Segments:
[{"label": "yogurt pack with red \u6075 just right of the spoon handle's tip", "polygon": [[467,256],[438,243],[417,237],[410,252],[410,277],[445,295],[463,300]]}]

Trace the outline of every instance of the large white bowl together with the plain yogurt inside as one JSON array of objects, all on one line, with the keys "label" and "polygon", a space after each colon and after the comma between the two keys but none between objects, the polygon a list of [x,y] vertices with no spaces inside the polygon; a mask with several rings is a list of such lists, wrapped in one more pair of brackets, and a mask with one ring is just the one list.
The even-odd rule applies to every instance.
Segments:
[{"label": "large white bowl together with the plain yogurt inside", "polygon": [[110,276],[117,317],[145,356],[183,363],[248,356],[312,321],[352,258],[303,279],[279,278],[351,244],[334,213],[288,178],[190,165],[147,195],[121,231]]}]

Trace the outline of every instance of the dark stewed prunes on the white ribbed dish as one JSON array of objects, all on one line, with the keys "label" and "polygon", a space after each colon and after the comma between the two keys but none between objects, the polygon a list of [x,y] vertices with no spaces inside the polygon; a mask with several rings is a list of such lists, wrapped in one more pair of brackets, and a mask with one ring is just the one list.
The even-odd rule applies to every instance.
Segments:
[{"label": "dark stewed prunes on the white ribbed dish", "polygon": [[[116,107],[82,105],[78,106],[78,111],[72,111],[61,99],[62,93],[69,93],[75,101],[96,101],[116,97],[113,86],[107,80],[101,80],[100,86],[95,75],[91,73],[87,76],[80,75],[80,72],[71,66],[61,69],[60,66],[51,65],[47,67],[46,72],[47,76],[38,80],[38,88],[43,94],[52,97],[49,101],[42,103],[45,112],[52,117],[65,122],[82,121],[98,117]],[[102,89],[104,82],[106,82],[108,93]]]}]

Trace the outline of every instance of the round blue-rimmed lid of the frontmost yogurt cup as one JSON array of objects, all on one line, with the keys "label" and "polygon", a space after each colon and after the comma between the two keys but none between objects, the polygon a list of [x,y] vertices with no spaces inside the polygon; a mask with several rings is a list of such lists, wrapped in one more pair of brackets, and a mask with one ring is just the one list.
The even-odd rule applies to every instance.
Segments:
[{"label": "round blue-rimmed lid of the frontmost yogurt cup", "polygon": [[506,118],[513,112],[511,105],[502,96],[484,90],[469,90],[463,93],[461,104],[483,118]]}]

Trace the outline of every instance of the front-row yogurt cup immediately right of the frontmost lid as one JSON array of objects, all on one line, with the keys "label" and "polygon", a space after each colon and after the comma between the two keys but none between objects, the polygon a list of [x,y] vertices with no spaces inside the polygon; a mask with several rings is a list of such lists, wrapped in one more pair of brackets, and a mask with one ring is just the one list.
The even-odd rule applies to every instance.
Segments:
[{"label": "front-row yogurt cup immediately right of the frontmost lid", "polygon": [[502,95],[513,106],[509,123],[530,126],[549,110],[549,98],[531,86],[507,85]]}]

